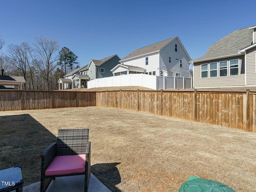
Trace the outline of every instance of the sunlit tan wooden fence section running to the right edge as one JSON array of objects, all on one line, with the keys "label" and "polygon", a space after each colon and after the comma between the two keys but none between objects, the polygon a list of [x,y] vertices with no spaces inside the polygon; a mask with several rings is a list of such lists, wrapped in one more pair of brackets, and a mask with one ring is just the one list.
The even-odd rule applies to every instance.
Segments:
[{"label": "sunlit tan wooden fence section running to the right edge", "polygon": [[96,106],[130,109],[256,132],[256,92],[96,92]]}]

